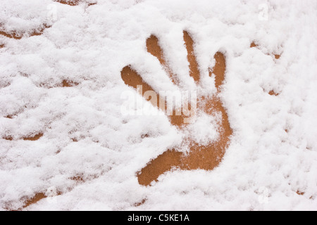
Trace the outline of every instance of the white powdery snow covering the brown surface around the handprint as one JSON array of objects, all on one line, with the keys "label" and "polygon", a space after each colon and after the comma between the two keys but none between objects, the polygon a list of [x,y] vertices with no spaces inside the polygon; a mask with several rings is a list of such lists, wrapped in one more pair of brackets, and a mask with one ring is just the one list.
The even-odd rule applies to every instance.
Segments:
[{"label": "white powdery snow covering the brown surface around the handprint", "polygon": [[[1,29],[24,35],[0,35],[1,210],[49,188],[61,195],[24,210],[317,210],[315,0],[96,2],[1,1]],[[44,24],[51,27],[31,37]],[[140,186],[137,172],[184,134],[165,116],[123,115],[120,96],[132,89],[120,71],[132,65],[154,89],[177,90],[147,53],[155,34],[193,89],[182,30],[196,43],[206,93],[216,92],[213,55],[225,52],[221,97],[234,135],[213,171],[176,170]],[[78,85],[59,87],[64,79]],[[214,120],[199,120],[196,140],[206,139],[201,129],[216,135]]]}]

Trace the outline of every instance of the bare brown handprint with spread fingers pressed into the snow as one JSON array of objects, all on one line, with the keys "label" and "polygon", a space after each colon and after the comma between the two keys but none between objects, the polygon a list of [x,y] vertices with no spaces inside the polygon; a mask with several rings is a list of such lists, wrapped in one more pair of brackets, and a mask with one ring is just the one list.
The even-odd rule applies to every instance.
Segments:
[{"label": "bare brown handprint with spread fingers pressed into the snow", "polygon": [[[184,41],[187,49],[187,60],[189,61],[189,75],[194,79],[197,86],[201,84],[199,66],[197,63],[196,56],[194,54],[194,41],[188,32],[184,32]],[[166,58],[164,57],[161,46],[159,46],[159,39],[154,35],[151,35],[147,39],[147,51],[151,55],[158,58],[159,62],[163,66],[164,70],[170,77],[173,84],[178,85],[178,79],[173,75],[172,70],[168,67],[166,63]],[[144,167],[140,172],[137,173],[137,178],[140,185],[150,185],[152,181],[157,181],[161,174],[170,171],[172,168],[178,168],[183,170],[191,169],[206,169],[212,170],[217,167],[225,154],[226,148],[230,142],[230,136],[232,135],[232,129],[228,121],[228,115],[223,106],[223,103],[219,97],[220,87],[225,79],[225,56],[221,52],[217,52],[214,56],[216,60],[216,65],[212,70],[209,70],[209,76],[215,75],[216,77],[216,89],[217,92],[213,97],[197,95],[197,112],[201,111],[208,115],[215,115],[215,113],[220,113],[221,120],[219,121],[218,129],[218,139],[207,145],[201,145],[194,141],[190,136],[188,136],[184,143],[187,143],[189,148],[189,153],[181,153],[175,149],[166,150],[162,155],[159,155],[156,159],[151,160],[146,167]],[[123,68],[121,71],[121,77],[125,84],[132,86],[137,89],[137,86],[142,85],[142,94],[147,91],[154,91],[152,87],[144,82],[142,77],[133,69],[130,65]],[[157,93],[157,92],[156,92]],[[157,94],[158,98],[161,98]],[[155,101],[156,107],[161,110],[165,110],[165,105],[159,105],[159,101]],[[199,115],[199,113],[197,113]],[[178,129],[185,129],[188,124],[184,121],[186,119],[185,115],[173,115],[168,116],[170,124],[178,127]]]}]

